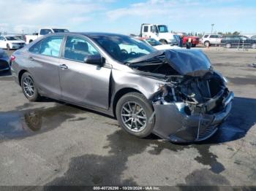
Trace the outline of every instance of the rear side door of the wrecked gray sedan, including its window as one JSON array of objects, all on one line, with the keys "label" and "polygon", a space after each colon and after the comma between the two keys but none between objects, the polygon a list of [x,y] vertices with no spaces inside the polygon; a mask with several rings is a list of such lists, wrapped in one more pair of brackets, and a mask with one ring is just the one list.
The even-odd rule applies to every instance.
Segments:
[{"label": "rear side door of the wrecked gray sedan, including its window", "polygon": [[28,63],[39,90],[53,97],[61,96],[59,56],[64,36],[48,36],[29,48]]}]

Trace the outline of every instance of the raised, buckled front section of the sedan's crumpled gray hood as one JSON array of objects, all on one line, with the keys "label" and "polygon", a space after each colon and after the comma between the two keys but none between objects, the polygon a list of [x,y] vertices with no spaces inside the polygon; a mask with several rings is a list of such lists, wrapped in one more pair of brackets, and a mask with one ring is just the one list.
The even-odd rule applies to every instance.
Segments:
[{"label": "raised, buckled front section of the sedan's crumpled gray hood", "polygon": [[181,75],[198,77],[211,69],[211,62],[201,50],[166,50],[165,58]]}]

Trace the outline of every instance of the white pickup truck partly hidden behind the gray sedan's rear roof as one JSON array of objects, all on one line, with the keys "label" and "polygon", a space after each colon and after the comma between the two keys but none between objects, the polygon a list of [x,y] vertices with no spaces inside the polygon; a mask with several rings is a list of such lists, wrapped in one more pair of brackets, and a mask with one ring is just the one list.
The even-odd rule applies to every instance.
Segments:
[{"label": "white pickup truck partly hidden behind the gray sedan's rear roof", "polygon": [[29,44],[30,42],[34,41],[35,39],[45,34],[65,33],[65,32],[69,32],[69,31],[64,28],[40,28],[38,33],[35,33],[32,35],[25,35],[26,44]]}]

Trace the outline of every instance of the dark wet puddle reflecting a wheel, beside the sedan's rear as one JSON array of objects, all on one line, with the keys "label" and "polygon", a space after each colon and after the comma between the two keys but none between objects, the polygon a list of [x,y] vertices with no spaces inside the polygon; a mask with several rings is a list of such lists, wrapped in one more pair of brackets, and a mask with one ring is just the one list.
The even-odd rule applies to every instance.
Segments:
[{"label": "dark wet puddle reflecting a wheel, beside the sedan's rear", "polygon": [[[23,108],[30,106],[24,104]],[[50,108],[24,109],[11,112],[0,112],[0,141],[4,139],[19,139],[43,133],[58,128],[62,122],[85,120],[85,117],[76,119],[75,114],[85,112],[74,106],[57,104]]]}]

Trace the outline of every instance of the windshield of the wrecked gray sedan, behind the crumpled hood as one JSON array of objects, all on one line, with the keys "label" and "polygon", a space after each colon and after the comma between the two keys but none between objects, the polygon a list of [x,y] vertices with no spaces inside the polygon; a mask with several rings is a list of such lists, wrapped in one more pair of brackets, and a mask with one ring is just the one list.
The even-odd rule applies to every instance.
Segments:
[{"label": "windshield of the wrecked gray sedan, behind the crumpled hood", "polygon": [[91,35],[90,37],[91,39],[94,39],[100,47],[108,52],[112,58],[120,61],[121,63],[127,63],[132,59],[157,51],[145,42],[130,38],[129,36],[118,34],[99,34]]}]

